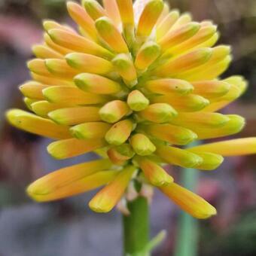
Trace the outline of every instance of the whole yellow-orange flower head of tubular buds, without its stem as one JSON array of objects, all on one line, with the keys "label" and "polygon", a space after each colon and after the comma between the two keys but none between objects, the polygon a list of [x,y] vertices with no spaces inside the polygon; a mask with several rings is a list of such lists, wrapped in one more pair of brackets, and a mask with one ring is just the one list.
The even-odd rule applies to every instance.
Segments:
[{"label": "whole yellow-orange flower head of tubular buds, without its stem", "polygon": [[196,218],[215,215],[163,165],[212,170],[225,156],[256,153],[256,138],[181,147],[230,136],[245,124],[236,114],[217,112],[247,86],[241,76],[220,78],[230,47],[214,46],[219,34],[211,21],[193,22],[161,0],[148,1],[136,15],[132,0],[103,5],[67,3],[79,32],[44,21],[44,43],[32,48],[36,58],[28,62],[32,80],[20,86],[35,114],[7,113],[14,126],[55,139],[47,151],[56,159],[89,151],[102,159],[39,178],[29,185],[29,196],[57,200],[105,185],[89,205],[108,212],[139,179]]}]

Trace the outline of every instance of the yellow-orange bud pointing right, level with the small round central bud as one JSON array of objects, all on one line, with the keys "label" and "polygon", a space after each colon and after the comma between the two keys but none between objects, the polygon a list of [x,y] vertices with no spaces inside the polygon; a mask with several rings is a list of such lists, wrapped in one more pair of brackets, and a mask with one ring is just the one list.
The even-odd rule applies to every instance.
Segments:
[{"label": "yellow-orange bud pointing right, level with the small round central bud", "polygon": [[194,112],[200,111],[209,105],[209,100],[196,94],[188,94],[185,96],[178,96],[168,94],[165,96],[155,96],[151,99],[152,102],[166,102],[172,105],[177,111]]}]

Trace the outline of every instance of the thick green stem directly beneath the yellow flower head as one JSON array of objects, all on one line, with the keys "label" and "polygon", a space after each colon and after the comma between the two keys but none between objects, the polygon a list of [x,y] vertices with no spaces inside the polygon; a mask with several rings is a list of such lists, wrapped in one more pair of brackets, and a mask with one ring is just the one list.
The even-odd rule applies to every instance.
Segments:
[{"label": "thick green stem directly beneath the yellow flower head", "polygon": [[123,215],[123,254],[135,255],[149,240],[148,201],[145,197],[127,203],[130,215]]}]

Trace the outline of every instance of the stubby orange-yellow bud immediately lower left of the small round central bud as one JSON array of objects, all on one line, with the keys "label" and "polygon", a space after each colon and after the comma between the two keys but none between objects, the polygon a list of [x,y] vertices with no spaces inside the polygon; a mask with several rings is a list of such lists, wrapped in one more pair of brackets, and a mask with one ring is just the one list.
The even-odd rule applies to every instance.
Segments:
[{"label": "stubby orange-yellow bud immediately lower left of the small round central bud", "polygon": [[99,116],[108,123],[115,123],[130,112],[126,102],[113,100],[108,102],[99,110]]}]

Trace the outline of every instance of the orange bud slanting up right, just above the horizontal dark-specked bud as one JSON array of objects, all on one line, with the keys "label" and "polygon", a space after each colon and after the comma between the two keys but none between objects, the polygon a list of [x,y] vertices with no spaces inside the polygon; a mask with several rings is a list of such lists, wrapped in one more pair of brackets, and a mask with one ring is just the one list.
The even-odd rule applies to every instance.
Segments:
[{"label": "orange bud slanting up right, just above the horizontal dark-specked bud", "polygon": [[211,56],[211,48],[200,48],[193,50],[190,53],[178,56],[175,59],[170,59],[169,62],[155,69],[154,74],[163,77],[171,77],[172,75],[177,75],[178,78],[178,74],[202,66],[208,62]]}]

